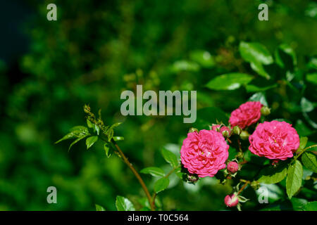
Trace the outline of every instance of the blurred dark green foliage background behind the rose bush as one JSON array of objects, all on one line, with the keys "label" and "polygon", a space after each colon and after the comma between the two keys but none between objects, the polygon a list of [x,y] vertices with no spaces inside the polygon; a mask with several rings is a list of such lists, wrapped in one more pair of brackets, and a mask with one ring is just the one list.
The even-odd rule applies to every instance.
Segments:
[{"label": "blurred dark green foliage background behind the rose bush", "polygon": [[[258,20],[263,2],[268,21]],[[57,21],[46,20],[50,3],[57,6]],[[89,150],[78,143],[68,153],[69,143],[54,142],[70,127],[85,125],[82,105],[89,103],[96,113],[101,108],[107,123],[123,121],[116,129],[125,137],[120,147],[137,169],[163,165],[159,150],[178,152],[191,124],[180,116],[123,117],[120,93],[136,84],[197,90],[198,109],[230,113],[254,93],[244,87],[213,91],[205,84],[228,72],[263,79],[242,60],[240,41],[259,42],[272,55],[280,44],[294,49],[299,77],[292,86],[300,94],[287,84],[266,91],[271,119],[285,118],[300,136],[317,141],[316,127],[299,106],[302,96],[313,107],[317,102],[316,76],[305,88],[301,82],[317,68],[315,1],[52,0],[9,6],[1,3],[7,26],[0,61],[0,210],[94,210],[95,203],[115,210],[116,195],[142,207],[137,180],[116,156],[106,158],[101,143]],[[23,19],[15,23],[15,15]],[[207,60],[195,63],[201,53]],[[309,112],[316,121],[316,111]],[[151,188],[154,181],[142,176]],[[163,210],[225,210],[223,198],[231,191],[208,178],[197,186],[173,177],[170,183],[159,195]],[[46,203],[49,186],[56,186],[58,204]]]}]

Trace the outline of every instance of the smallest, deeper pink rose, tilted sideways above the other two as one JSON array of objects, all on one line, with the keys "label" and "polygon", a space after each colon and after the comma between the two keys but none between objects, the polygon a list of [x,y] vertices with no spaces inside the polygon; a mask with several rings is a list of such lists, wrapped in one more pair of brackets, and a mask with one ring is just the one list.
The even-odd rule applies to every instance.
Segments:
[{"label": "smallest, deeper pink rose, tilted sideways above the other two", "polygon": [[241,129],[249,127],[261,118],[262,104],[259,101],[248,101],[233,110],[229,122],[232,127],[239,126]]}]

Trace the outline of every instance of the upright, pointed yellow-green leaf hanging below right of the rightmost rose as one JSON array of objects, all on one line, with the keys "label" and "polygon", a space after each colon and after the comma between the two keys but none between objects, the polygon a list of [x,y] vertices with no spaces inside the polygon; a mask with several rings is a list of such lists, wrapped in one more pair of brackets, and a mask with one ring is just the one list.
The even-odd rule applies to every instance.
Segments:
[{"label": "upright, pointed yellow-green leaf hanging below right of the rightmost rose", "polygon": [[286,192],[288,198],[297,193],[302,186],[303,167],[299,160],[296,160],[292,165],[288,167],[286,178]]}]

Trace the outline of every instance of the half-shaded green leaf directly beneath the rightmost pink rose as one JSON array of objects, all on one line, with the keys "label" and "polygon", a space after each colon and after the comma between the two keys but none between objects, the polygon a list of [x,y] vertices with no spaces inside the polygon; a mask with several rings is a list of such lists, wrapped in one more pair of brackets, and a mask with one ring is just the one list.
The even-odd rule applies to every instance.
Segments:
[{"label": "half-shaded green leaf directly beneath the rightmost pink rose", "polygon": [[258,181],[265,184],[276,184],[285,179],[286,175],[287,165],[284,162],[280,162],[278,167],[274,168],[270,166],[262,169]]}]

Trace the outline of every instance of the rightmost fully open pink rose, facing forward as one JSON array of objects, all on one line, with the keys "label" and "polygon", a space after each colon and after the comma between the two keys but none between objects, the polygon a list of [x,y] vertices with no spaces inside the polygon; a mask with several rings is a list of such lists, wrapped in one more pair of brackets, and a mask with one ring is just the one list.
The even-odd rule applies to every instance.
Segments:
[{"label": "rightmost fully open pink rose, facing forward", "polygon": [[271,160],[292,158],[299,147],[297,131],[287,122],[263,122],[249,136],[249,150]]}]

